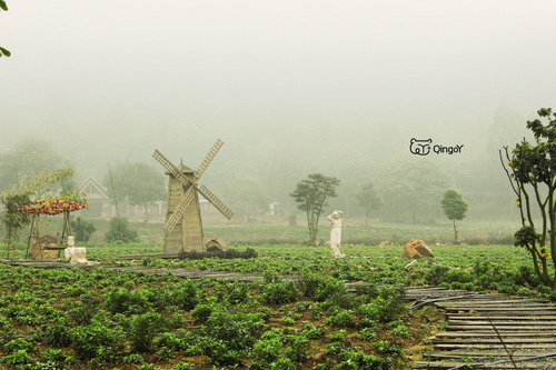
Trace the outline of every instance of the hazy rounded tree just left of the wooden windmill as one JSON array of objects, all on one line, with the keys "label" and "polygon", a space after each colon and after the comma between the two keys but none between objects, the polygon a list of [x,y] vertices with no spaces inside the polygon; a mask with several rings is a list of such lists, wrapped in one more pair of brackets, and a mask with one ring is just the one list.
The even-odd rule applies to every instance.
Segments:
[{"label": "hazy rounded tree just left of the wooden windmill", "polygon": [[132,204],[141,206],[147,218],[149,203],[166,197],[163,174],[145,162],[119,163],[111,179],[110,173],[107,173],[103,184],[115,203],[127,198]]}]

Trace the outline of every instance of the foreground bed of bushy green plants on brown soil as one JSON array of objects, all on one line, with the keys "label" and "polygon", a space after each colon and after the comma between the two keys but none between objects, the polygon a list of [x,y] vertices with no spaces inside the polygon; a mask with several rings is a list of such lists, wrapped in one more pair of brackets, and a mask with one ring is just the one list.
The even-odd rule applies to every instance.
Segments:
[{"label": "foreground bed of bushy green plants on brown soil", "polygon": [[[245,260],[238,260],[241,262]],[[0,266],[0,364],[18,369],[403,369],[427,333],[401,286]],[[427,309],[425,309],[427,310]]]}]

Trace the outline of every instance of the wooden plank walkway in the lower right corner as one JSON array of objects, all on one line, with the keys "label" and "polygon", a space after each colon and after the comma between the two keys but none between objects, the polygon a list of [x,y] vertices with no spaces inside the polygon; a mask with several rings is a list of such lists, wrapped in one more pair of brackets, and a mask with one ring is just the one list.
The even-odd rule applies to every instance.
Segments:
[{"label": "wooden plank walkway in the lower right corner", "polygon": [[556,369],[556,306],[548,300],[431,287],[407,288],[407,299],[448,318],[414,369]]}]

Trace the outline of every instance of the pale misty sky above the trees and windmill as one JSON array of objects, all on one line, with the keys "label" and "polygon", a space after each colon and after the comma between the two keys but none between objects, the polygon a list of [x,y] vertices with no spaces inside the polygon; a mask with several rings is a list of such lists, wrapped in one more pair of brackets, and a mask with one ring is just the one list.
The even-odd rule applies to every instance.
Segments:
[{"label": "pale misty sky above the trees and windmill", "polygon": [[[46,140],[78,182],[102,181],[107,163],[161,173],[155,149],[195,169],[220,138],[200,182],[225,202],[250,189],[294,208],[296,183],[319,172],[341,180],[330,209],[360,216],[361,183],[391,198],[409,169],[434,169],[469,219],[510,220],[498,150],[556,108],[548,0],[7,3],[0,159]],[[430,153],[411,153],[413,138]],[[419,219],[444,219],[435,207]]]}]

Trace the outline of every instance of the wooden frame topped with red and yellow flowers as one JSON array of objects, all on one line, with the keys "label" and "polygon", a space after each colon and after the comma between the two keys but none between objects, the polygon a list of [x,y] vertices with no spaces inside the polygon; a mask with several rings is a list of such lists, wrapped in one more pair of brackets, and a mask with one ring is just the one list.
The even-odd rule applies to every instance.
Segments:
[{"label": "wooden frame topped with red and yellow flowers", "polygon": [[69,219],[69,213],[73,211],[78,211],[80,209],[87,208],[83,203],[78,203],[71,200],[40,200],[36,199],[31,201],[29,204],[21,207],[19,211],[21,213],[27,213],[32,216],[31,220],[31,230],[29,233],[29,242],[27,247],[27,254],[29,256],[29,249],[31,247],[31,239],[34,238],[39,243],[39,249],[42,250],[40,246],[40,236],[39,236],[39,216],[57,216],[63,214],[63,229],[61,239],[58,241],[58,247],[49,247],[44,249],[64,249],[62,246],[66,236],[71,234],[71,223]]}]

